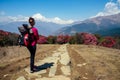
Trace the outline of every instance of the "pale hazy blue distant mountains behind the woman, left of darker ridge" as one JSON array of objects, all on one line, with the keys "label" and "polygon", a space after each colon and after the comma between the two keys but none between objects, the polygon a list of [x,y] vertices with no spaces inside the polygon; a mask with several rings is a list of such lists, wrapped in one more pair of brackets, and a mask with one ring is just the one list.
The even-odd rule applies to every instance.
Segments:
[{"label": "pale hazy blue distant mountains behind the woman, left of darker ridge", "polygon": [[[22,24],[28,24],[28,22],[27,21],[15,21],[9,23],[4,22],[0,24],[0,30],[19,33],[18,27],[22,26]],[[35,24],[35,27],[37,27],[39,34],[45,36],[51,35],[53,32],[64,26],[66,25],[56,24],[52,22],[42,22],[42,21],[36,21]]]}]

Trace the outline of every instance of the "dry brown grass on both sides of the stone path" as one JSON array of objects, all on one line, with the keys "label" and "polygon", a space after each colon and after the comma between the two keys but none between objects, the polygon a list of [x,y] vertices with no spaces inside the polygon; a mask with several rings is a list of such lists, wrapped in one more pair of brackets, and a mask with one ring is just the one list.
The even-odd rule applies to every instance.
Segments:
[{"label": "dry brown grass on both sides of the stone path", "polygon": [[[51,56],[59,46],[38,45],[36,61]],[[68,45],[67,49],[72,80],[120,80],[120,50],[92,45]],[[21,74],[28,77],[23,71],[27,66],[29,52],[25,47],[0,48],[0,80],[15,80]],[[59,67],[57,70],[56,75],[61,74]]]}]

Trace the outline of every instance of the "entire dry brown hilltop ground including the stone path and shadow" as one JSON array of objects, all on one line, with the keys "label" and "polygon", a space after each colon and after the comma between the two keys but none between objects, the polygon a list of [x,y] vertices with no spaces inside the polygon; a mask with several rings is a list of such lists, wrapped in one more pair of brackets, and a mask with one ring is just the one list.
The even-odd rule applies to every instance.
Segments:
[{"label": "entire dry brown hilltop ground including the stone path and shadow", "polygon": [[92,45],[38,45],[29,73],[25,47],[0,48],[1,80],[120,80],[120,50]]}]

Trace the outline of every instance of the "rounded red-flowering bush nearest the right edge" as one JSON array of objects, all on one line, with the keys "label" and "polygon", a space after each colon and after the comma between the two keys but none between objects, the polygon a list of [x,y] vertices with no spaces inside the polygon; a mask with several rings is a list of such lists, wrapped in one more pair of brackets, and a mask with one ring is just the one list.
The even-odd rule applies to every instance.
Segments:
[{"label": "rounded red-flowering bush nearest the right edge", "polygon": [[104,47],[113,47],[116,44],[116,41],[112,37],[105,37],[104,40],[100,43]]}]

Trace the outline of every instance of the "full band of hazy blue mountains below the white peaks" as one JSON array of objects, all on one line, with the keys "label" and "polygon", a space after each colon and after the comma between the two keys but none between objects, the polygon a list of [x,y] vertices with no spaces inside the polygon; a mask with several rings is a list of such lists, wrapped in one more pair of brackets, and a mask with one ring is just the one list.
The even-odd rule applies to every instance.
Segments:
[{"label": "full band of hazy blue mountains below the white peaks", "polygon": [[[28,22],[4,22],[0,24],[0,29],[18,33],[17,27],[26,23]],[[103,36],[114,36],[120,35],[120,13],[110,16],[90,18],[84,21],[77,21],[69,25],[36,21],[35,27],[38,28],[39,34],[45,36],[59,34],[73,35],[79,32],[98,33]]]}]

